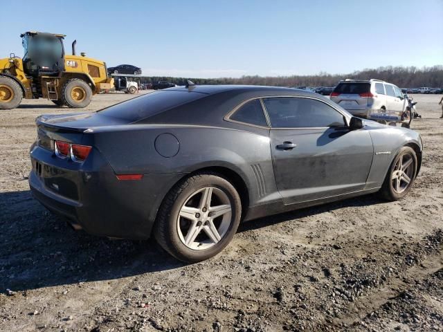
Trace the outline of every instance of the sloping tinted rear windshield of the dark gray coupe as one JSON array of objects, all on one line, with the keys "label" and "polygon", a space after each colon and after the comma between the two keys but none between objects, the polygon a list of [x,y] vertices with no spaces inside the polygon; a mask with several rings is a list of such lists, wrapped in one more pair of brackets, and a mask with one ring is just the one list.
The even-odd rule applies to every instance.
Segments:
[{"label": "sloping tinted rear windshield of the dark gray coupe", "polygon": [[98,111],[98,113],[102,116],[111,116],[112,118],[123,119],[128,122],[136,122],[204,97],[206,97],[204,93],[190,91],[155,91],[107,107]]}]

